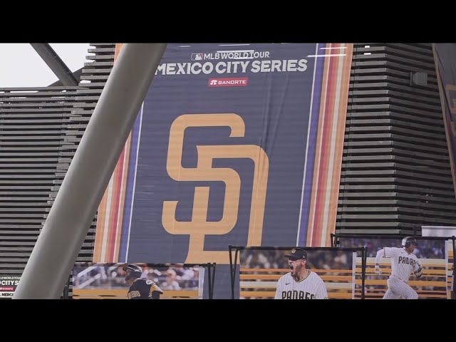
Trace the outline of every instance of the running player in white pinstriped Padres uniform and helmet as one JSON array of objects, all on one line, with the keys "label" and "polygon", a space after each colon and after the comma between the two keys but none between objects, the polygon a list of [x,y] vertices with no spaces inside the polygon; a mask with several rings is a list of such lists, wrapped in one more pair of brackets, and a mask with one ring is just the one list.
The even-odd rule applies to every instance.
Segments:
[{"label": "running player in white pinstriped Padres uniform and helmet", "polygon": [[404,237],[402,240],[403,248],[384,247],[377,252],[375,257],[375,274],[381,274],[380,261],[382,258],[391,258],[391,275],[388,278],[388,291],[383,299],[418,299],[418,294],[407,283],[410,274],[415,273],[417,278],[423,274],[423,267],[420,261],[413,254],[415,247],[418,246],[414,237]]}]

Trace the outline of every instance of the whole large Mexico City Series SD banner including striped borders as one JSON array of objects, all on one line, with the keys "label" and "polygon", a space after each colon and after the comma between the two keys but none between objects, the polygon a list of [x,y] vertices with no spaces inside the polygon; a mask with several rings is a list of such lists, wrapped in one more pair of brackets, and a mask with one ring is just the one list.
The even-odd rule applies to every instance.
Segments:
[{"label": "whole large Mexico City Series SD banner including striped borders", "polygon": [[329,246],[352,49],[169,44],[100,204],[94,261]]}]

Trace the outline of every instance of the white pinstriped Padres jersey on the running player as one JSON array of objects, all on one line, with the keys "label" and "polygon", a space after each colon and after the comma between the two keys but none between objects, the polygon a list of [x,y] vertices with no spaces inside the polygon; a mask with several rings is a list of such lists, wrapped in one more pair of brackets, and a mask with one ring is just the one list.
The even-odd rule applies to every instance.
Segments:
[{"label": "white pinstriped Padres jersey on the running player", "polygon": [[421,267],[416,255],[408,254],[403,248],[385,247],[383,248],[383,257],[391,258],[391,276],[397,276],[406,283],[410,274]]}]

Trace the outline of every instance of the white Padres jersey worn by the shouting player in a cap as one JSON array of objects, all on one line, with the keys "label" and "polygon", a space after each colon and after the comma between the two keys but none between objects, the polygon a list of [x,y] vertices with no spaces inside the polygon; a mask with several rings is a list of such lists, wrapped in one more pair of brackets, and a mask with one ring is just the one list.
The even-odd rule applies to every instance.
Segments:
[{"label": "white Padres jersey worn by the shouting player in a cap", "polygon": [[275,299],[328,299],[323,280],[310,271],[306,278],[296,281],[287,273],[277,282]]}]

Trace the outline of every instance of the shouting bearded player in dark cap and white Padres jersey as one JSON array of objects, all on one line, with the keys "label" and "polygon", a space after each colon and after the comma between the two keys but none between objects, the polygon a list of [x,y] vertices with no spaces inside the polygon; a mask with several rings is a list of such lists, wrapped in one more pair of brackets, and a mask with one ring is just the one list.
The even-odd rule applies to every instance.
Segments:
[{"label": "shouting bearded player in dark cap and white Padres jersey", "polygon": [[277,282],[275,299],[328,299],[323,280],[310,269],[306,269],[307,252],[299,247],[286,254],[289,273]]}]

